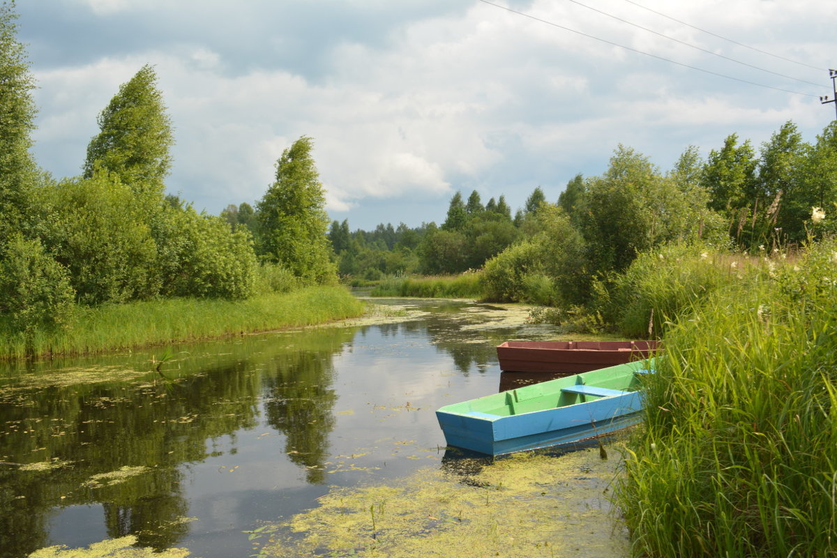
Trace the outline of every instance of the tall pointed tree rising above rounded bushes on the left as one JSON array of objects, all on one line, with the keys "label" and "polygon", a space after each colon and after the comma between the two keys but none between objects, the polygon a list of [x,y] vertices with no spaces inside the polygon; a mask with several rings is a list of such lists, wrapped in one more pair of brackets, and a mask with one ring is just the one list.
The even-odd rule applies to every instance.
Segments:
[{"label": "tall pointed tree rising above rounded bushes on the left", "polygon": [[97,169],[109,171],[156,203],[172,166],[173,136],[154,69],[143,66],[122,84],[96,121],[100,132],[87,146],[85,178],[93,177]]}]

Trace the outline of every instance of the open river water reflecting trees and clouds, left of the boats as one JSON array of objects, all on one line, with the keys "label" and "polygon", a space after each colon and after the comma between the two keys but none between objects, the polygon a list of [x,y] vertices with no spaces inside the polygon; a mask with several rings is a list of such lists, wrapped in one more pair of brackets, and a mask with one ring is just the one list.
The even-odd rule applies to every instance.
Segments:
[{"label": "open river water reflecting trees and clouds, left of the boats", "polygon": [[244,531],[335,487],[438,470],[435,409],[496,392],[497,344],[554,336],[515,306],[375,302],[371,320],[0,365],[0,556],[124,535],[250,555]]}]

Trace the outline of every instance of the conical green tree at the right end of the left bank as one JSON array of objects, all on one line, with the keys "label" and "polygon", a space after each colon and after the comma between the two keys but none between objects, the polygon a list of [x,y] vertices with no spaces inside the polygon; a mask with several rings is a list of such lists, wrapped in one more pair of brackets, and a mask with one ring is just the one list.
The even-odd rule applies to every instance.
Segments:
[{"label": "conical green tree at the right end of the left bank", "polygon": [[259,251],[296,277],[314,283],[336,279],[326,197],[311,156],[313,140],[302,136],[276,161],[275,182],[258,203]]}]

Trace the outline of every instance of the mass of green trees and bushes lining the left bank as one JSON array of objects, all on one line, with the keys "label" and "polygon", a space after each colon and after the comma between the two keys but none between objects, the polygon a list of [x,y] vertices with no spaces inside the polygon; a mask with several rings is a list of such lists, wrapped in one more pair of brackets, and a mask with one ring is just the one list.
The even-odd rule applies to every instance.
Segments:
[{"label": "mass of green trees and bushes lining the left bank", "polygon": [[0,320],[12,330],[64,325],[75,304],[242,299],[336,280],[311,138],[276,161],[257,210],[235,216],[246,226],[230,227],[165,194],[174,139],[151,66],[100,112],[80,176],[40,170],[36,84],[16,18],[0,5]]}]

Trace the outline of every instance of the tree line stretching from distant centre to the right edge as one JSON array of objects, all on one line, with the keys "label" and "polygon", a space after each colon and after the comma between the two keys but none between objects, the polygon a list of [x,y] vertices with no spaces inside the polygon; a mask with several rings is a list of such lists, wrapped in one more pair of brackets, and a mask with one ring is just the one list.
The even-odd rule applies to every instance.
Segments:
[{"label": "tree line stretching from distant centre to the right edge", "polygon": [[620,145],[603,175],[573,177],[556,202],[537,187],[513,218],[505,196],[483,205],[456,192],[440,226],[350,232],[334,221],[328,238],[343,276],[482,269],[491,299],[583,304],[661,244],[758,252],[837,232],[830,220],[814,231],[814,209],[837,210],[837,122],[813,143],[787,122],[758,150],[737,134],[706,159],[689,146],[669,171]]}]

